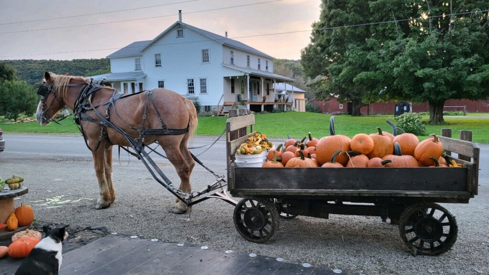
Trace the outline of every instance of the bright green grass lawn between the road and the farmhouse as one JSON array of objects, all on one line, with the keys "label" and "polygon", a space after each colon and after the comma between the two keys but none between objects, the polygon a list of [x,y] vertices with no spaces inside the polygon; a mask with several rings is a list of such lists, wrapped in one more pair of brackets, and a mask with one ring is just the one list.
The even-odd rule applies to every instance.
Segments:
[{"label": "bright green grass lawn between the road and the farmhouse", "polygon": [[[477,114],[484,116],[487,114]],[[473,116],[470,114],[469,116]],[[197,135],[199,136],[218,136],[224,130],[224,125],[227,117],[199,117],[199,127]],[[255,115],[256,124],[254,129],[263,132],[270,138],[286,138],[289,134],[292,138],[301,138],[312,133],[313,137],[321,138],[329,136],[329,119],[330,115],[316,113],[278,113],[267,115]],[[334,128],[336,134],[353,137],[358,133],[375,133],[376,127],[380,127],[383,131],[391,132],[392,129],[385,122],[389,119],[393,122],[392,115],[364,115],[361,117],[352,117],[349,115],[336,115],[334,118]],[[62,121],[62,124],[70,124],[73,120],[67,118]],[[479,143],[489,143],[489,116],[488,118],[470,118],[464,116],[446,117],[445,122],[449,125],[426,126],[426,135],[419,136],[420,139],[427,138],[429,134],[440,134],[442,128],[452,128],[454,138],[458,138],[459,130],[473,131],[473,141]],[[60,126],[55,123],[50,123],[47,126],[41,127],[37,122],[24,123],[0,123],[0,128],[6,134],[79,134],[76,125]]]}]

